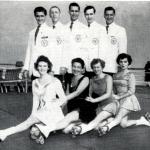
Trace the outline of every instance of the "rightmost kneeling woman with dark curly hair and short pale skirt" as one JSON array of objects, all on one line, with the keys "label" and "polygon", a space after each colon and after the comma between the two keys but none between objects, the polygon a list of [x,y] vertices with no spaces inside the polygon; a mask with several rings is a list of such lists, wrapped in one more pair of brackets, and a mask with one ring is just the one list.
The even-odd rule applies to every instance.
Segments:
[{"label": "rightmost kneeling woman with dark curly hair and short pale skirt", "polygon": [[113,77],[114,91],[116,91],[114,98],[120,103],[120,108],[115,119],[100,128],[102,134],[105,134],[118,124],[123,128],[132,125],[150,126],[150,122],[143,116],[139,120],[128,119],[131,112],[141,110],[140,104],[135,96],[135,76],[128,70],[129,65],[132,63],[132,58],[130,55],[122,53],[117,57],[117,63],[120,68],[118,73]]}]

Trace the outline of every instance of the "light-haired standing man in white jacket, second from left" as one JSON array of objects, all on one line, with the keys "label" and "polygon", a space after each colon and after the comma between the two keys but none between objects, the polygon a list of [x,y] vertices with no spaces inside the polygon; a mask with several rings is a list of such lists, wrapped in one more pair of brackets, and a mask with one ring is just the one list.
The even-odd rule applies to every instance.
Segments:
[{"label": "light-haired standing man in white jacket, second from left", "polygon": [[64,49],[64,25],[60,20],[60,8],[52,6],[49,10],[49,16],[52,20],[52,32],[51,42],[53,43],[53,49],[51,50],[51,61],[53,63],[54,74],[60,74],[66,69],[63,67],[63,49]]}]

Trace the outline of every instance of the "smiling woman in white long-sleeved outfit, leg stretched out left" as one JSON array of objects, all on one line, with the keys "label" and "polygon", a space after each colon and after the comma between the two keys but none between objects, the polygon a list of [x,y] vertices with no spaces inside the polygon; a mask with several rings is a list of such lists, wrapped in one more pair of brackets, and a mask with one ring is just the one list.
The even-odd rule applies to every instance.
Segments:
[{"label": "smiling woman in white long-sleeved outfit, leg stretched out left", "polygon": [[[33,107],[28,119],[17,126],[0,130],[0,140],[4,141],[9,135],[27,130],[33,124],[42,123],[53,131],[56,124],[64,118],[61,105],[66,101],[66,96],[60,81],[49,74],[52,64],[45,56],[39,56],[35,69],[40,77],[32,82]],[[56,98],[56,95],[59,98]]]}]

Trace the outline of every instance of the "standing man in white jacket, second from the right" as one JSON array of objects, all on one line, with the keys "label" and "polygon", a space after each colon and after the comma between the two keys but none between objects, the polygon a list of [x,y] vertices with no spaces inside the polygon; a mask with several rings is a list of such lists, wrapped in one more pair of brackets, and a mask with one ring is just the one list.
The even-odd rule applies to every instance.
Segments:
[{"label": "standing man in white jacket, second from the right", "polygon": [[90,63],[93,58],[100,58],[100,52],[104,49],[105,27],[95,21],[96,9],[93,6],[86,6],[84,16],[87,21],[86,32],[86,54],[85,64],[87,71],[91,71]]}]

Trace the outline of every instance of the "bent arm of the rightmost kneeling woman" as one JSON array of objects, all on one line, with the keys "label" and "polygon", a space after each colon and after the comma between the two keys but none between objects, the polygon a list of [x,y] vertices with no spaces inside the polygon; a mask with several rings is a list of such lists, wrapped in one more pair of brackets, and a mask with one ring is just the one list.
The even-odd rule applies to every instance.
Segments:
[{"label": "bent arm of the rightmost kneeling woman", "polygon": [[133,95],[135,93],[135,85],[136,85],[135,76],[134,74],[130,74],[128,81],[128,91],[125,94],[118,96],[118,99],[126,98],[128,96]]}]

